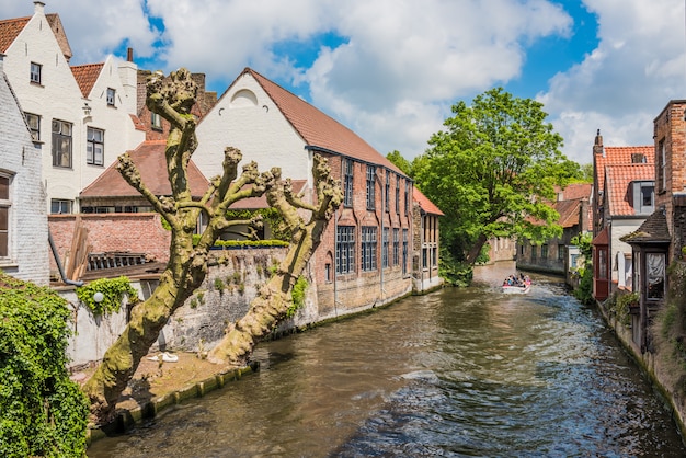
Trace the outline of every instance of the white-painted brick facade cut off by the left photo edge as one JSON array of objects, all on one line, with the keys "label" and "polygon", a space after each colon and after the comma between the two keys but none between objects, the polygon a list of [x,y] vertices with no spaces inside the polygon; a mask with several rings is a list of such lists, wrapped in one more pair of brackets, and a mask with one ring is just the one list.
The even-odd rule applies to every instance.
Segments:
[{"label": "white-painted brick facade cut off by the left photo edge", "polygon": [[2,186],[9,183],[9,195],[4,195],[4,188],[0,192],[0,207],[9,215],[7,242],[4,227],[0,227],[2,254],[7,249],[7,255],[0,255],[0,270],[23,280],[47,285],[48,230],[41,184],[42,152],[32,141],[2,67],[0,55],[0,178]]}]

